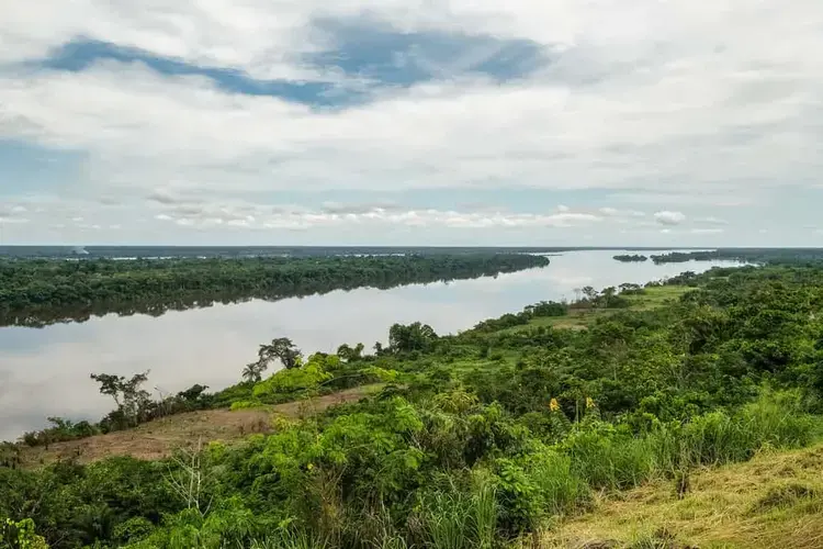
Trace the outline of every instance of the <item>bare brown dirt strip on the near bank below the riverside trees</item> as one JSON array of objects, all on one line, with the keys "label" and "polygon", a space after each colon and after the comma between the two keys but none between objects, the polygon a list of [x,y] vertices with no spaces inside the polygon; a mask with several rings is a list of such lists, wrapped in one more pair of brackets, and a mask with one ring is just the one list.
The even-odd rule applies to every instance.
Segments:
[{"label": "bare brown dirt strip on the near bank below the riverside trees", "polygon": [[198,440],[233,441],[255,433],[271,432],[274,416],[306,417],[335,404],[359,401],[379,385],[348,389],[339,393],[305,401],[288,402],[269,408],[204,410],[164,417],[134,429],[97,435],[80,440],[56,442],[44,447],[24,448],[21,455],[27,467],[49,463],[57,459],[76,458],[81,463],[112,456],[133,456],[139,459],[160,459],[176,448],[195,446]]}]

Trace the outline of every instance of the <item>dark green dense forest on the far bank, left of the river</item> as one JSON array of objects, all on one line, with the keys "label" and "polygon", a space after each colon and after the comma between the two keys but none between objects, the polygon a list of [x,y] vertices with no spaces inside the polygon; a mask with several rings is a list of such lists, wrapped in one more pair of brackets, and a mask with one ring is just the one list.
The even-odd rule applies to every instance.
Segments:
[{"label": "dark green dense forest on the far bank, left of the river", "polygon": [[0,325],[43,326],[108,313],[159,315],[258,298],[391,288],[544,267],[528,254],[174,259],[0,259]]}]

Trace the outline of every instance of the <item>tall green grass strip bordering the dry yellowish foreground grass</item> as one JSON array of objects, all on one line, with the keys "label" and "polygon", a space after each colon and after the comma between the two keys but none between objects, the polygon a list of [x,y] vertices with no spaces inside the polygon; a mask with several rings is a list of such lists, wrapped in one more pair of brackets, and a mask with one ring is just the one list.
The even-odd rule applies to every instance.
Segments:
[{"label": "tall green grass strip bordering the dry yellowish foreground grass", "polygon": [[[335,489],[339,479],[329,480],[318,485],[326,511],[304,523],[306,530],[277,531],[250,547],[493,549],[535,531],[549,517],[587,508],[593,490],[631,489],[696,467],[745,461],[764,448],[802,447],[818,426],[786,393],[764,393],[740,410],[661,424],[636,436],[606,423],[579,425],[559,445],[532,439],[516,455],[432,480],[417,493],[414,511],[407,503],[388,508],[380,501],[343,501]],[[677,545],[654,533],[632,547]]]}]

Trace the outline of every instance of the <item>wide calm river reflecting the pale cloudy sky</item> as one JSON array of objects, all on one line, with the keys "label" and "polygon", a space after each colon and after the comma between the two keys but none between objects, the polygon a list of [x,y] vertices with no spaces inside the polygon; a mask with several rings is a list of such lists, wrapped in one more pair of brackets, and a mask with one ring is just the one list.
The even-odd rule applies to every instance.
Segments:
[{"label": "wide calm river reflecting the pale cloudy sky", "polygon": [[385,341],[397,322],[420,321],[439,334],[453,333],[541,300],[574,299],[585,285],[644,283],[734,265],[621,264],[612,259],[617,254],[621,251],[571,251],[552,256],[545,268],[448,283],[252,300],[159,317],[112,314],[45,328],[0,328],[0,440],[41,428],[48,416],[102,417],[113,402],[98,393],[89,379],[92,372],[150,370],[147,389],[166,393],[194,383],[216,390],[236,383],[258,345],[274,337],[292,338],[306,354],[334,352],[343,343],[371,348]]}]

